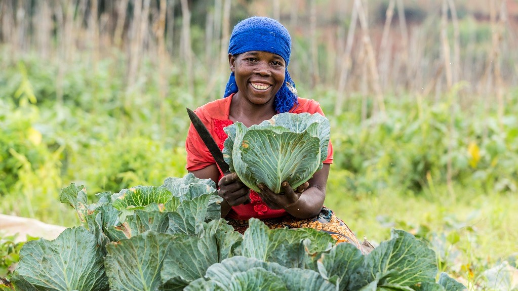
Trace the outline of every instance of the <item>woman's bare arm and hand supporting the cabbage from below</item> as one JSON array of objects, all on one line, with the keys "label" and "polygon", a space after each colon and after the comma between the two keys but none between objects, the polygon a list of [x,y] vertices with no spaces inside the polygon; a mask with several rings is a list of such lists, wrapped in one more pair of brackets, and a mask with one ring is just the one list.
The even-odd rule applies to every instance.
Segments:
[{"label": "woman's bare arm and hand supporting the cabbage from below", "polygon": [[313,217],[322,210],[325,200],[325,188],[329,176],[329,164],[324,164],[322,169],[313,174],[306,190],[292,189],[289,184],[283,184],[284,194],[275,194],[264,185],[259,185],[262,190],[261,198],[270,208],[283,208],[286,212],[299,219]]}]

